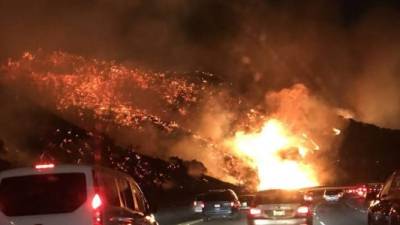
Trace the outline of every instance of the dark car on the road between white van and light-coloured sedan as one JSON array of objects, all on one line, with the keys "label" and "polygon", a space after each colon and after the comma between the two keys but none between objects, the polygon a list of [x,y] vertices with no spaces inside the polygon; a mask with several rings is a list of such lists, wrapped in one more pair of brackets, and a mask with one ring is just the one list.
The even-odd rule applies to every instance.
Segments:
[{"label": "dark car on the road between white van and light-coloured sedan", "polygon": [[238,219],[240,202],[236,193],[231,189],[210,190],[204,195],[203,220]]}]

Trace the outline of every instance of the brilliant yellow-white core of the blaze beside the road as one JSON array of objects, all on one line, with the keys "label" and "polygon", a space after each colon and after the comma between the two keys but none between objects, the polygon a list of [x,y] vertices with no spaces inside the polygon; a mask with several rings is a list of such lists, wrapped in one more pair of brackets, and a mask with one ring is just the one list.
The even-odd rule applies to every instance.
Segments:
[{"label": "brilliant yellow-white core of the blaze beside the road", "polygon": [[259,190],[317,186],[315,171],[306,157],[318,145],[307,135],[295,135],[277,119],[268,120],[258,133],[237,132],[229,143],[258,171]]}]

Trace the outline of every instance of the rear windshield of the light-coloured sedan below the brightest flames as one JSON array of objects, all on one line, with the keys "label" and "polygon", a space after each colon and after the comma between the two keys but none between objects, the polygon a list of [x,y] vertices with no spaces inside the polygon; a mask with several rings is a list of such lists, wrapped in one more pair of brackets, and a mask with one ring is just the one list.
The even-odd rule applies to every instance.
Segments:
[{"label": "rear windshield of the light-coloured sedan below the brightest flames", "polygon": [[255,205],[261,204],[285,204],[285,203],[301,203],[304,196],[299,192],[291,191],[265,191],[256,195],[254,199]]}]

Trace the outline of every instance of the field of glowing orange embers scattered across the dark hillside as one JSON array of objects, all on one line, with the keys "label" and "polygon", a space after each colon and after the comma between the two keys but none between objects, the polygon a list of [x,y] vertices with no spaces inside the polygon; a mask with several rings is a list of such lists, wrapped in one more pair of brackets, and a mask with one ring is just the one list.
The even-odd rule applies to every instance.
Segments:
[{"label": "field of glowing orange embers scattered across the dark hillside", "polygon": [[[15,80],[17,85],[24,80],[36,90],[35,95],[53,100],[58,111],[90,112],[96,119],[132,128],[150,122],[166,131],[176,129],[179,124],[164,119],[163,109],[172,108],[184,115],[201,89],[166,74],[148,74],[64,52],[26,52],[20,60],[10,59],[2,69],[7,75],[2,79]],[[148,102],[160,107],[151,108]]]}]

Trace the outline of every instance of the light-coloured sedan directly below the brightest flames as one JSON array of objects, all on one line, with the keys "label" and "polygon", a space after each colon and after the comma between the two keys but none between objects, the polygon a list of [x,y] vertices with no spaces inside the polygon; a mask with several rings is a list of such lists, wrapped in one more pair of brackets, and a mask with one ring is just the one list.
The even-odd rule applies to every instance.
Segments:
[{"label": "light-coloured sedan directly below the brightest flames", "polygon": [[300,191],[266,190],[258,192],[247,215],[248,225],[312,225],[313,213]]}]

